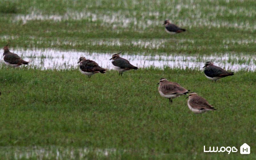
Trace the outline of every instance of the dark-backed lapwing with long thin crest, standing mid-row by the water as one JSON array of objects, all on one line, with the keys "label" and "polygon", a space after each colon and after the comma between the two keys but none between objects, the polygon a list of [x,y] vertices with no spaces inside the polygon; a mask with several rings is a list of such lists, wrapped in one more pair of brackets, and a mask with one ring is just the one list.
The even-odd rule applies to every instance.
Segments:
[{"label": "dark-backed lapwing with long thin crest, standing mid-row by the water", "polygon": [[[121,53],[121,52],[120,52]],[[133,66],[128,60],[121,58],[119,56],[120,53],[113,54],[112,58],[112,64],[114,65],[114,68],[119,72],[119,76],[123,75],[123,72],[128,71],[130,69],[138,69],[138,67]]]}]

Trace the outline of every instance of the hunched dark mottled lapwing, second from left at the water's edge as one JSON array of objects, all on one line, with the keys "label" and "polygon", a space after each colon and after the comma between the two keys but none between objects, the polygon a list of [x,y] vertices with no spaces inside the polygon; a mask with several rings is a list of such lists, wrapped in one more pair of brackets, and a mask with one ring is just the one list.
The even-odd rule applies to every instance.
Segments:
[{"label": "hunched dark mottled lapwing, second from left at the water's edge", "polygon": [[82,74],[87,75],[89,78],[91,78],[92,75],[96,73],[105,73],[107,69],[101,68],[98,63],[96,63],[93,60],[86,60],[85,57],[80,57],[79,61],[77,63],[80,63],[79,70]]}]

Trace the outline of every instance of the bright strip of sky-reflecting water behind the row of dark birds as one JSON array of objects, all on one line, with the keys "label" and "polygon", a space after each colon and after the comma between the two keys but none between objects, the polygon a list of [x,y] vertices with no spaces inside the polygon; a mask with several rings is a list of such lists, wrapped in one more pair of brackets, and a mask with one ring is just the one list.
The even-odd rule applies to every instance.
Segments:
[{"label": "bright strip of sky-reflecting water behind the row of dark birds", "polygon": [[[73,51],[59,51],[52,49],[34,49],[34,50],[14,50],[24,60],[29,61],[29,67],[39,69],[68,69],[76,68],[79,57],[86,57],[86,59],[96,61],[101,67],[114,69],[109,60],[112,54],[115,53],[98,53],[98,52],[77,52]],[[139,68],[155,67],[161,68],[191,68],[196,70],[202,70],[206,61],[213,61],[216,66],[228,69],[230,71],[256,70],[256,56],[223,53],[215,55],[193,55],[187,56],[185,54],[169,55],[164,53],[161,55],[127,55],[125,52],[120,56],[130,61],[131,64]]]}]

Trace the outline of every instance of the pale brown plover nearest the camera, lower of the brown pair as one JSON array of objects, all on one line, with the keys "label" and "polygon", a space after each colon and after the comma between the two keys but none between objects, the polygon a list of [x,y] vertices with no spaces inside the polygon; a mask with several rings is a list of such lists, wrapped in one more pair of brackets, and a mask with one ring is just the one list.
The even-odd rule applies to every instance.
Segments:
[{"label": "pale brown plover nearest the camera, lower of the brown pair", "polygon": [[216,110],[204,98],[196,93],[188,94],[188,108],[194,113],[204,113],[209,110]]}]

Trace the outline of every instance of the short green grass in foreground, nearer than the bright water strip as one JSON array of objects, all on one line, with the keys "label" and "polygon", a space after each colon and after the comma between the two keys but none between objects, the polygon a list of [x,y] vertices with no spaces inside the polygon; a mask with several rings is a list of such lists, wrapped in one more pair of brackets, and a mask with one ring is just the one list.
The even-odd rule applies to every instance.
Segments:
[{"label": "short green grass in foreground, nearer than the bright water strip", "polygon": [[[194,114],[186,96],[170,104],[158,93],[163,77],[217,110]],[[0,146],[126,150],[114,159],[255,159],[255,82],[255,72],[243,71],[214,83],[189,69],[139,69],[123,76],[110,70],[89,79],[78,69],[1,68]],[[250,155],[240,154],[243,143],[251,146]],[[204,153],[204,145],[235,146],[238,152]]]}]

